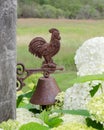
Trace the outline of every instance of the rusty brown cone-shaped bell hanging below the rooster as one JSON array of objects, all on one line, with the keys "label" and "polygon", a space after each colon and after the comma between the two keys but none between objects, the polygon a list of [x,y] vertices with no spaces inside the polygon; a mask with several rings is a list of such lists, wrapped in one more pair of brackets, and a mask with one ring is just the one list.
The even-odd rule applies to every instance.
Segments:
[{"label": "rusty brown cone-shaped bell hanging below the rooster", "polygon": [[41,77],[30,102],[37,105],[51,105],[55,103],[55,97],[60,92],[54,78]]}]

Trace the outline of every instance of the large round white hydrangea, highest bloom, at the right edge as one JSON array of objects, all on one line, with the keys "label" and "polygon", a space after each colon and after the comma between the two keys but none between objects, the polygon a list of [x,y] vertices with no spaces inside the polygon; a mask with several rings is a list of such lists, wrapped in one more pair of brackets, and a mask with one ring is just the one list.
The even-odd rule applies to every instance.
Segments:
[{"label": "large round white hydrangea, highest bloom, at the right edge", "polygon": [[104,72],[104,37],[85,41],[77,50],[75,64],[78,75],[102,74]]}]

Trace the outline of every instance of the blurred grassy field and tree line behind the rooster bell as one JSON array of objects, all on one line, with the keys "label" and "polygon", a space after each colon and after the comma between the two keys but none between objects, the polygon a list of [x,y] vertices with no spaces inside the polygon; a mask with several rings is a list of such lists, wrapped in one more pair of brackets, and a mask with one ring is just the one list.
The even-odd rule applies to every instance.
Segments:
[{"label": "blurred grassy field and tree line behind the rooster bell", "polygon": [[18,0],[17,62],[26,68],[40,68],[42,61],[28,51],[30,41],[37,36],[50,41],[50,28],[61,35],[61,49],[53,57],[63,72],[53,76],[65,90],[76,77],[74,56],[85,40],[104,36],[104,0]]}]

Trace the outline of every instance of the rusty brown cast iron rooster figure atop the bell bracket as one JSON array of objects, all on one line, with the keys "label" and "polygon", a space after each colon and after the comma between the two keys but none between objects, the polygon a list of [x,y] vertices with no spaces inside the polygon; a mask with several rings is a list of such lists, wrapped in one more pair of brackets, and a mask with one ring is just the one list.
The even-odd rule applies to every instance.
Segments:
[{"label": "rusty brown cast iron rooster figure atop the bell bracket", "polygon": [[52,57],[60,50],[60,33],[57,29],[52,28],[49,30],[51,33],[51,40],[47,43],[42,37],[34,38],[29,44],[29,51],[39,57],[44,58],[42,68],[56,68]]}]

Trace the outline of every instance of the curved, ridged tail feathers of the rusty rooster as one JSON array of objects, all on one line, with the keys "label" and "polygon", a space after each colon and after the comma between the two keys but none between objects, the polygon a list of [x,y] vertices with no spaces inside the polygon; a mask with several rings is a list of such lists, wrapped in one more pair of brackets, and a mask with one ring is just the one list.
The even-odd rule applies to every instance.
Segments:
[{"label": "curved, ridged tail feathers of the rusty rooster", "polygon": [[45,43],[46,41],[41,37],[34,38],[29,44],[29,52],[39,58],[42,58],[42,46]]}]

